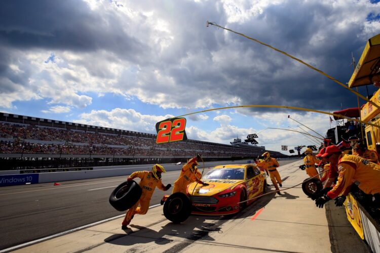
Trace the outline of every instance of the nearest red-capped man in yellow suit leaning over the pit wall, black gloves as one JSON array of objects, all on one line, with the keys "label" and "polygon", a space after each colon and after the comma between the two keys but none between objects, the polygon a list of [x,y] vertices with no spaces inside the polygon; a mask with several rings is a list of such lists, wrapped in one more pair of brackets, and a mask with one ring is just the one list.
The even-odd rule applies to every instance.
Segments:
[{"label": "nearest red-capped man in yellow suit leaning over the pit wall, black gloves", "polygon": [[330,163],[338,163],[339,176],[336,185],[326,195],[316,200],[318,207],[322,208],[333,198],[335,198],[335,205],[343,205],[353,183],[365,194],[376,194],[376,199],[379,197],[380,165],[360,156],[342,155],[341,150],[335,145],[328,146],[322,157],[328,158]]}]

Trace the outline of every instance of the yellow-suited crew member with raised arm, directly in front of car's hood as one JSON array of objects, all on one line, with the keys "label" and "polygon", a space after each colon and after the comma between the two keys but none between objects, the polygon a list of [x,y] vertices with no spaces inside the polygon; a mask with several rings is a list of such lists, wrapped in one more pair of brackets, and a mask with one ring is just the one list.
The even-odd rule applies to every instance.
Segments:
[{"label": "yellow-suited crew member with raised arm, directly in front of car's hood", "polygon": [[181,174],[174,182],[172,194],[175,192],[182,192],[186,194],[187,186],[195,181],[202,184],[203,186],[209,185],[201,181],[201,173],[197,168],[197,165],[199,165],[197,159],[201,159],[200,154],[197,154],[197,156],[189,159],[187,163],[182,166]]}]

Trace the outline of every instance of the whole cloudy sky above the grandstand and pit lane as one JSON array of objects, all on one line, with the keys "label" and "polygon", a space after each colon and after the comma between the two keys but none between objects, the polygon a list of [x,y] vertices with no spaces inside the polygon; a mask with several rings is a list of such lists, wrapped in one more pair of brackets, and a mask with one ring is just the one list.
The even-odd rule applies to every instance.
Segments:
[{"label": "whole cloudy sky above the grandstand and pit lane", "polygon": [[[354,94],[325,76],[243,36],[206,27],[207,20],[346,83],[351,53],[357,62],[366,41],[380,33],[380,3],[3,0],[0,111],[156,133],[156,122],[170,116],[224,106],[327,112],[357,106]],[[367,95],[365,88],[359,92]],[[277,151],[315,144],[294,132],[265,130],[302,131],[288,115],[322,135],[330,128],[328,115],[250,108],[187,116],[186,133],[218,143],[260,133],[259,144]]]}]

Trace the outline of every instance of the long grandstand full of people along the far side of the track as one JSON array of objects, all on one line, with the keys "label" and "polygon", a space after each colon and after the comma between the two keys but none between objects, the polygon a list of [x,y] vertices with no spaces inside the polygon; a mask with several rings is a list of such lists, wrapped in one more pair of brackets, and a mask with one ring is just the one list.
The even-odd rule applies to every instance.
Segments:
[{"label": "long grandstand full of people along the far side of the track", "polygon": [[270,151],[187,140],[156,144],[157,135],[53,119],[0,113],[2,170],[107,166],[184,161],[197,153],[205,160],[250,159]]}]

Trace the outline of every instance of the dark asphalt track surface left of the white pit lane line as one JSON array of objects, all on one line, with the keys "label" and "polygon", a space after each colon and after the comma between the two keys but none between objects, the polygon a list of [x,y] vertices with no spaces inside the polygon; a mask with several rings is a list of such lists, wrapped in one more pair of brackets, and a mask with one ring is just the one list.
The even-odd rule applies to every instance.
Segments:
[{"label": "dark asphalt track surface left of the white pit lane line", "polygon": [[[291,160],[279,160],[284,165]],[[206,162],[205,167],[219,164],[246,163],[243,161]],[[165,167],[176,166],[177,171],[163,174],[166,185],[178,178],[182,165],[163,164]],[[151,165],[128,165],[150,170]],[[199,166],[202,170],[203,165]],[[2,187],[0,192],[0,250],[35,239],[44,238],[70,229],[122,215],[108,202],[110,193],[127,178],[108,177],[86,180]],[[150,205],[159,204],[164,194],[156,189]]]}]

